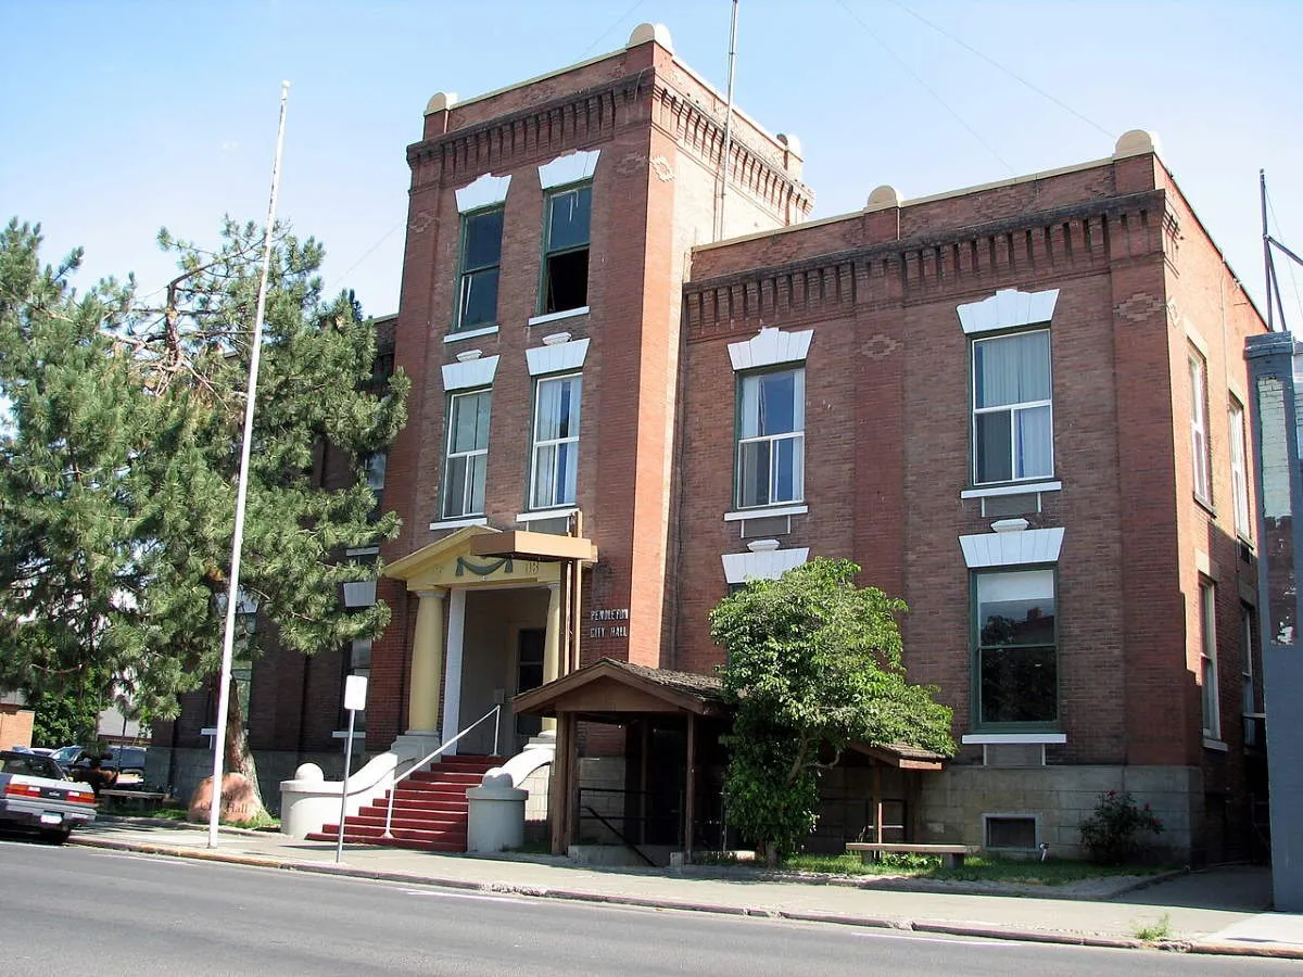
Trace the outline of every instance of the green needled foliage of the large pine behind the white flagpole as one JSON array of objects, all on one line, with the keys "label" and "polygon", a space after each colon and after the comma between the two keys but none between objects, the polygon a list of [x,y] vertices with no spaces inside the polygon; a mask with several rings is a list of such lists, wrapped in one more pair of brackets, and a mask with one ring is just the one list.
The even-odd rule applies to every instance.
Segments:
[{"label": "green needled foliage of the large pine behind the white flagpole", "polygon": [[[215,250],[172,238],[162,307],[134,283],[78,297],[79,255],[42,268],[39,228],[0,237],[0,687],[64,694],[87,680],[150,719],[216,671],[263,233],[227,220]],[[322,296],[319,244],[278,228],[268,281],[241,590],[270,634],[314,653],[377,634],[340,585],[377,564],[347,547],[397,530],[374,516],[365,459],[405,419],[407,380],[371,382],[374,331],[352,294]],[[322,446],[352,485],[314,479]]]}]

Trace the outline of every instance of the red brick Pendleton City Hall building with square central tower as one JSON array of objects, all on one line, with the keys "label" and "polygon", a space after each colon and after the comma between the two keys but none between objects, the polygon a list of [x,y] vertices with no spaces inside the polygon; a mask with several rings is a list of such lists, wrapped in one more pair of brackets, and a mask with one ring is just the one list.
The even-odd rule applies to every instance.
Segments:
[{"label": "red brick Pendleton City Hall building with square central tower", "polygon": [[[799,142],[727,115],[652,25],[430,100],[408,147],[394,357],[413,388],[384,473],[403,531],[366,750],[414,757],[502,703],[513,752],[538,720],[512,696],[601,658],[708,675],[731,584],[850,558],[909,604],[909,676],[962,746],[921,774],[899,756],[834,771],[812,844],[890,821],[1070,853],[1124,788],[1178,855],[1250,853],[1242,350],[1264,324],[1151,138],[807,221]],[[349,654],[255,667],[268,779],[331,756]],[[572,716],[633,715],[590,692]],[[580,786],[681,767],[657,745],[672,726],[571,727]],[[490,724],[460,744],[491,746]]]}]

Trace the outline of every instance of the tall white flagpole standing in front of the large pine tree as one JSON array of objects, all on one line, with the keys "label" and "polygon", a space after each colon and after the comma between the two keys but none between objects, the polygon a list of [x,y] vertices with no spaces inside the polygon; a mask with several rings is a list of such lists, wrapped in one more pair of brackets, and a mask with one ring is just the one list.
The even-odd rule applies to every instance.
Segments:
[{"label": "tall white flagpole standing in front of the large pine tree", "polygon": [[[253,408],[258,393],[258,361],[262,352],[262,319],[267,311],[267,276],[271,272],[272,228],[276,224],[276,197],[280,191],[280,156],[285,146],[285,103],[289,82],[280,83],[280,125],[276,130],[276,158],[271,164],[271,201],[267,205],[266,245],[262,250],[262,281],[258,284],[258,311],[253,320],[253,349],[249,354],[249,391],[245,399],[244,440],[240,444],[240,481],[236,487],[236,526],[231,541],[231,585],[227,588],[227,627],[222,638],[222,673],[218,679],[218,732],[212,737],[212,800],[208,804],[208,848],[218,844],[222,815],[222,769],[227,752],[227,714],[231,709],[231,659],[236,640],[236,602],[240,595],[240,551],[244,546],[245,504],[249,498],[249,452],[253,444]],[[352,744],[349,744],[352,745]]]}]

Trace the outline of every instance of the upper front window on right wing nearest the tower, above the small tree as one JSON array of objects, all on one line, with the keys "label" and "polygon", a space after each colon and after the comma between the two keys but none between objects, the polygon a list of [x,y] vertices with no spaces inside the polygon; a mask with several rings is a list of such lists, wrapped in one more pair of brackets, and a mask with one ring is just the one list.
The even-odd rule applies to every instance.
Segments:
[{"label": "upper front window on right wing nearest the tower, above the small tree", "polygon": [[805,370],[739,376],[737,507],[805,496]]}]

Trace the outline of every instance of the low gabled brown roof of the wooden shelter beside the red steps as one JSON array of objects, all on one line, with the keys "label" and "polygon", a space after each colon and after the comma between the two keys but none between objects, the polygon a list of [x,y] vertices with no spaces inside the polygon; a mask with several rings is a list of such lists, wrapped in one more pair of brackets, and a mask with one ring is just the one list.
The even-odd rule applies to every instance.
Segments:
[{"label": "low gabled brown roof of the wooden shelter beside the red steps", "polygon": [[628,714],[687,713],[715,716],[726,711],[723,688],[713,675],[646,668],[603,658],[563,679],[523,692],[512,700],[517,714],[573,715],[618,724]]}]

